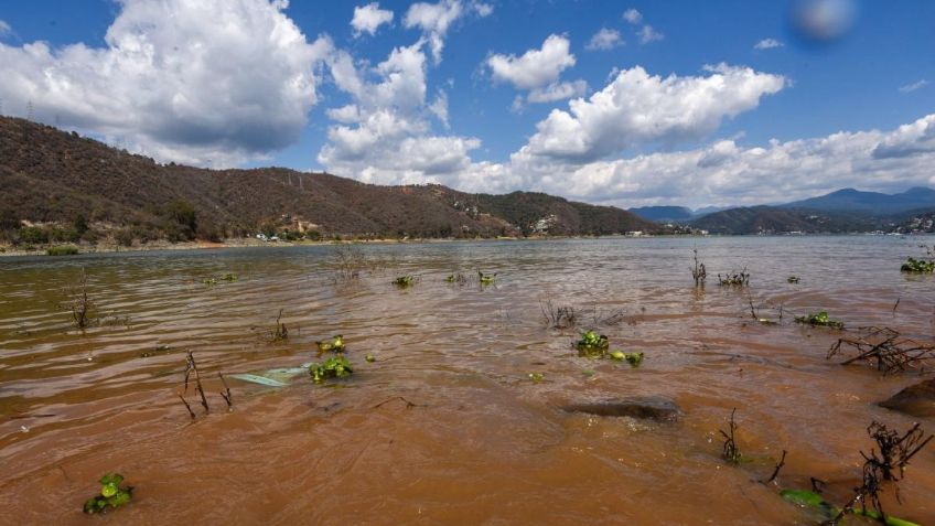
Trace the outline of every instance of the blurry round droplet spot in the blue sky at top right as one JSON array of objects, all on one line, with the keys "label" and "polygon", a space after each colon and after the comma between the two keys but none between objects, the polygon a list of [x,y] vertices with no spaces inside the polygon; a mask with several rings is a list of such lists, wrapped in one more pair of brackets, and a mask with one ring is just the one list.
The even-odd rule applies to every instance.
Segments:
[{"label": "blurry round droplet spot in the blue sky at top right", "polygon": [[796,0],[791,13],[794,33],[808,43],[832,43],[853,25],[853,0]]}]

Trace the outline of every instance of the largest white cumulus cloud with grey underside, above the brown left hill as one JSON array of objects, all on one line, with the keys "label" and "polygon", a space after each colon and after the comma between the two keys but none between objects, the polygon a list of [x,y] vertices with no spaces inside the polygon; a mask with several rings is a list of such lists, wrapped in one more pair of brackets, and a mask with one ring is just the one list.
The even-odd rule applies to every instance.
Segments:
[{"label": "largest white cumulus cloud with grey underside, above the brown left hill", "polygon": [[268,0],[123,0],[104,47],[0,44],[7,112],[161,160],[232,165],[297,141],[327,39]]}]

